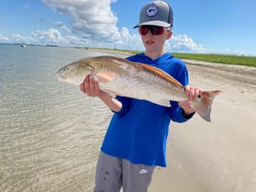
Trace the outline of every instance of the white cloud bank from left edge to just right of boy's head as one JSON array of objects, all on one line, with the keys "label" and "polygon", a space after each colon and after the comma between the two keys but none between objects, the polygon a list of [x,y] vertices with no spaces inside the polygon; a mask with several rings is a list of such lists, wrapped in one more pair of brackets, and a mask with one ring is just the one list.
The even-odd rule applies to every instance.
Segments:
[{"label": "white cloud bank from left edge to just right of boy's head", "polygon": [[[140,51],[144,49],[139,34],[132,34],[126,27],[117,28],[117,15],[111,10],[111,4],[117,0],[43,0],[43,2],[54,11],[68,15],[72,21],[71,25],[58,21],[53,23],[50,29],[32,32],[30,37],[14,34],[9,39],[0,35],[0,41]],[[174,35],[166,42],[165,48],[167,52],[205,50],[203,45],[195,43],[186,34]]]}]

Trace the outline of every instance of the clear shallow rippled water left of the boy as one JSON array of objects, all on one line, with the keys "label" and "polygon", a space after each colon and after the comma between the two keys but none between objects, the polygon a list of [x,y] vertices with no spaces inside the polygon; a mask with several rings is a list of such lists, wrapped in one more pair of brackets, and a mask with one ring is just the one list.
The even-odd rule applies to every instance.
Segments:
[{"label": "clear shallow rippled water left of the boy", "polygon": [[83,49],[0,45],[0,191],[93,191],[112,113],[57,81]]}]

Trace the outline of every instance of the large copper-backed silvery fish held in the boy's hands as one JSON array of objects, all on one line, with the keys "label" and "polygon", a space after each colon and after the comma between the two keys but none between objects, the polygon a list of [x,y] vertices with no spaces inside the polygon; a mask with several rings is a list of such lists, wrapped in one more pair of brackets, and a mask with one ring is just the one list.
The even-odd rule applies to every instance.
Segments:
[{"label": "large copper-backed silvery fish held in the boy's hands", "polygon": [[[171,75],[151,65],[128,61],[115,56],[95,56],[75,61],[57,72],[64,83],[80,85],[87,75],[93,75],[99,89],[116,96],[144,99],[171,107],[170,100],[187,100],[184,87]],[[203,92],[192,100],[194,110],[210,121],[212,101],[221,91]]]}]

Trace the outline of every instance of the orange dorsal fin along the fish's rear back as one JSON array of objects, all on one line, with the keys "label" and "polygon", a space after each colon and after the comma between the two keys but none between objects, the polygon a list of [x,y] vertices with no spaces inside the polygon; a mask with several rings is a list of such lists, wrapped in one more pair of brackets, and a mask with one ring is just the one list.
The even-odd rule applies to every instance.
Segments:
[{"label": "orange dorsal fin along the fish's rear back", "polygon": [[166,72],[160,70],[159,68],[153,67],[151,65],[143,64],[143,63],[137,63],[137,64],[142,68],[144,68],[145,70],[150,71],[153,74],[159,75],[160,77],[175,84],[176,86],[183,88],[183,85],[178,80],[176,80],[173,76],[167,74]]}]

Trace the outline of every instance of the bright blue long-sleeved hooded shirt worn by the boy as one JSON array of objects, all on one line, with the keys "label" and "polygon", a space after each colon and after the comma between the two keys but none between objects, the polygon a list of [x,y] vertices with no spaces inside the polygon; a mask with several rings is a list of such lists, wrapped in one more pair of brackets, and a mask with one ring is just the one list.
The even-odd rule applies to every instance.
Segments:
[{"label": "bright blue long-sleeved hooded shirt worn by the boy", "polygon": [[[127,59],[158,67],[182,85],[188,84],[185,64],[169,53],[155,60],[144,53]],[[117,99],[122,103],[122,108],[111,119],[101,151],[133,163],[165,167],[170,121],[184,122],[188,119],[182,116],[178,102],[170,101],[171,107],[164,107],[125,96],[117,96]]]}]

